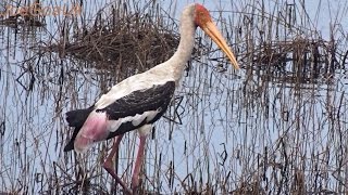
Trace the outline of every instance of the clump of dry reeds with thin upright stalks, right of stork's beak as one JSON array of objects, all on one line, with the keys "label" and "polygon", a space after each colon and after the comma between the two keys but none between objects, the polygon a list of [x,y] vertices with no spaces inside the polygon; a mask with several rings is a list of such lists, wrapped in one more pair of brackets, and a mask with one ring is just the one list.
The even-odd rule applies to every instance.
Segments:
[{"label": "clump of dry reeds with thin upright stalks, right of stork's beak", "polygon": [[231,26],[237,29],[234,39],[246,69],[261,70],[273,81],[308,83],[343,67],[336,29],[331,29],[330,39],[323,38],[303,3],[278,0],[270,6],[265,1],[240,2],[241,14],[231,20],[237,21]]}]

